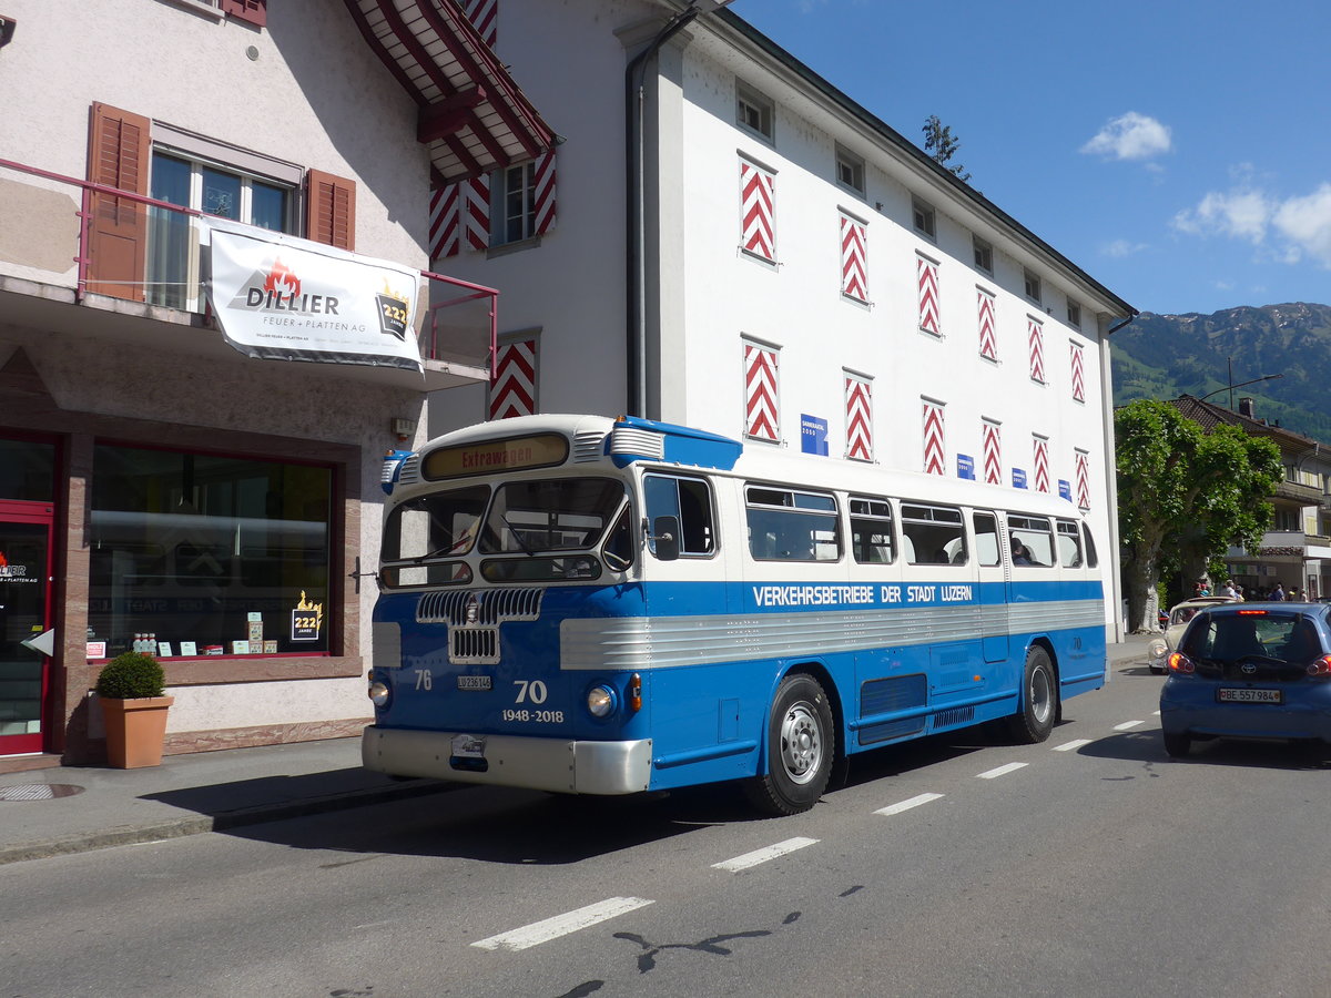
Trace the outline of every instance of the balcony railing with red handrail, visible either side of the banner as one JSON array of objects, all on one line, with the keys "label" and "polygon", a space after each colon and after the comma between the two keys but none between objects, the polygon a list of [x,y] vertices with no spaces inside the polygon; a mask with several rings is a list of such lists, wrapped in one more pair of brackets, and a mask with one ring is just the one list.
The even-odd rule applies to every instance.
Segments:
[{"label": "balcony railing with red handrail, visible either side of the banner", "polygon": [[[0,217],[8,230],[0,234],[0,278],[19,282],[7,281],[4,290],[59,301],[63,289],[75,303],[101,295],[140,303],[145,314],[168,309],[205,317],[190,325],[216,325],[204,290],[209,217],[202,212],[0,160]],[[498,291],[418,273],[415,333],[426,367],[447,369],[454,375],[447,385],[491,378]]]}]

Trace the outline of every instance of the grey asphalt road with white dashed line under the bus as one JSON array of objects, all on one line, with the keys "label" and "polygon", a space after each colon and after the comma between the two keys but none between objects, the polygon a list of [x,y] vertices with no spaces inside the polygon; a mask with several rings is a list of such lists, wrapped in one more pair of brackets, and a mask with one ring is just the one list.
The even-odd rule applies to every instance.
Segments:
[{"label": "grey asphalt road with white dashed line under the bus", "polygon": [[0,868],[0,995],[1324,995],[1331,773],[1170,761],[1145,667],[1042,745],[727,788],[466,788]]}]

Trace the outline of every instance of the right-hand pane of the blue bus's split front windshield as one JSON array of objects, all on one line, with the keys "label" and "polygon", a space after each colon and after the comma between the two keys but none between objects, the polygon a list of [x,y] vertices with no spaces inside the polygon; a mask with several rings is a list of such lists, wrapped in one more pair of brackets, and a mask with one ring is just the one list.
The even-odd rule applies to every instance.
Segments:
[{"label": "right-hand pane of the blue bus's split front windshield", "polygon": [[608,478],[508,482],[495,490],[480,552],[538,555],[592,547],[623,500],[623,483]]}]

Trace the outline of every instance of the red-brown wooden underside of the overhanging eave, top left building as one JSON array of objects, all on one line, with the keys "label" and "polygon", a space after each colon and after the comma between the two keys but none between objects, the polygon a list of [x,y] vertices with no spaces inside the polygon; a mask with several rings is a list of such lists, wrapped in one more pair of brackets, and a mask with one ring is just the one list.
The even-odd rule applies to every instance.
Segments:
[{"label": "red-brown wooden underside of the overhanging eave, top left building", "polygon": [[374,53],[419,105],[417,140],[443,186],[555,145],[554,130],[449,0],[343,0]]}]

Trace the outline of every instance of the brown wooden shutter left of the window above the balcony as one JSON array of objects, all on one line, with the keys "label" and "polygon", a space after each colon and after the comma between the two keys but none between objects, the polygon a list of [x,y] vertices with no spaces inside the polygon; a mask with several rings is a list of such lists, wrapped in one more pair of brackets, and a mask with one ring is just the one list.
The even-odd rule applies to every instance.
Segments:
[{"label": "brown wooden shutter left of the window above the balcony", "polygon": [[[88,130],[88,180],[134,194],[148,194],[152,122],[106,104],[92,105]],[[88,290],[133,302],[145,301],[144,265],[148,206],[93,192],[88,226]]]}]

